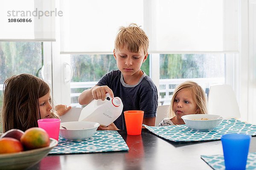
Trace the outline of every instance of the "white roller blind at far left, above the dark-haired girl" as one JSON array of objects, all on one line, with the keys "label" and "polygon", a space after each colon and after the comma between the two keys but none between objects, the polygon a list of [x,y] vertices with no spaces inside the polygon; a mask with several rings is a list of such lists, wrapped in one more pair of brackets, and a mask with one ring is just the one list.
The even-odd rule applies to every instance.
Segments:
[{"label": "white roller blind at far left, above the dark-haired girl", "polygon": [[55,0],[1,0],[0,41],[55,41]]}]

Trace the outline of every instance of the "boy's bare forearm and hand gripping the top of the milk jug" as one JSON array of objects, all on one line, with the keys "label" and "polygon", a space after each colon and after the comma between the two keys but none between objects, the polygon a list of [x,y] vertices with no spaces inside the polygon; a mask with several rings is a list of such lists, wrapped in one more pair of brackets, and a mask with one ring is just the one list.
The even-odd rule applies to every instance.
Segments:
[{"label": "boy's bare forearm and hand gripping the top of the milk jug", "polygon": [[113,91],[107,86],[95,85],[94,87],[83,91],[79,97],[78,101],[80,105],[88,105],[93,99],[102,99],[105,100],[106,92],[110,94],[111,97],[114,97]]}]

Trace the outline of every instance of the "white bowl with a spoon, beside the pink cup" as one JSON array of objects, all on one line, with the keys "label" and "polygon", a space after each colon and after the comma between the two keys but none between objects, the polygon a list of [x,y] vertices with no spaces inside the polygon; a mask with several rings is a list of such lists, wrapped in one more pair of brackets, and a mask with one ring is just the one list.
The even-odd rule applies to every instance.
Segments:
[{"label": "white bowl with a spoon, beside the pink cup", "polygon": [[99,123],[96,122],[63,122],[60,125],[60,134],[64,139],[81,141],[93,136],[98,127]]}]

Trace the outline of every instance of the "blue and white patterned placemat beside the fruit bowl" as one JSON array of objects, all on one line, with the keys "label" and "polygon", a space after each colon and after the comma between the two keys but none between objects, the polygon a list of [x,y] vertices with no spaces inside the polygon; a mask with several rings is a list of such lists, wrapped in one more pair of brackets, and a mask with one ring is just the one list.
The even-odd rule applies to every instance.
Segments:
[{"label": "blue and white patterned placemat beside the fruit bowl", "polygon": [[58,145],[49,154],[96,153],[128,151],[129,147],[122,136],[115,130],[97,130],[87,140],[70,141],[59,137]]}]

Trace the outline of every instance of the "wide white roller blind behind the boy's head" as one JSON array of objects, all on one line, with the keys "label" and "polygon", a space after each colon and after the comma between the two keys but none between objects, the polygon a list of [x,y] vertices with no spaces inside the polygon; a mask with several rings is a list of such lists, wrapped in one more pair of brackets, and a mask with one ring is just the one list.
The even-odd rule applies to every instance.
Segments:
[{"label": "wide white roller blind behind the boy's head", "polygon": [[150,53],[238,52],[239,0],[61,0],[61,53],[112,53],[137,23]]}]

